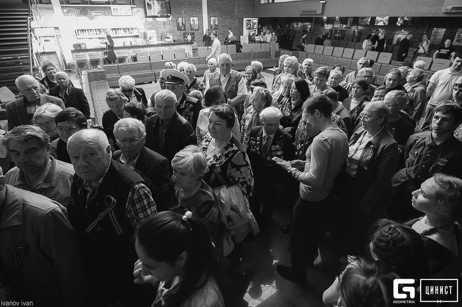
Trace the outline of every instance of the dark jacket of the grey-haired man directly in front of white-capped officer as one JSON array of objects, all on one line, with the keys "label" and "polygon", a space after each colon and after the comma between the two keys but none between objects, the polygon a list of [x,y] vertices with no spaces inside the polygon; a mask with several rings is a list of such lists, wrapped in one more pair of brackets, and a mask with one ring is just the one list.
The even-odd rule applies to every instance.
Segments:
[{"label": "dark jacket of the grey-haired man directly in front of white-capped officer", "polygon": [[[146,147],[160,153],[172,162],[173,156],[185,148],[187,145],[196,145],[197,137],[191,124],[188,123],[177,112],[173,115],[167,131],[165,132],[165,142],[162,151],[160,150],[159,139],[160,119],[157,114],[152,115],[146,121]],[[172,172],[172,166],[170,166]]]}]

